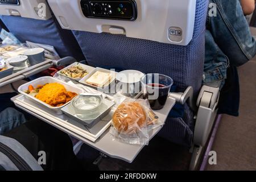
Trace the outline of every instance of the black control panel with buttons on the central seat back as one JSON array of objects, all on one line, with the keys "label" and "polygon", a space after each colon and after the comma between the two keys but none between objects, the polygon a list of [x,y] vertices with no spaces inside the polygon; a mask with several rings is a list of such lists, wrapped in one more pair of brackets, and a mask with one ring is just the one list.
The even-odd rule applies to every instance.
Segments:
[{"label": "black control panel with buttons on the central seat back", "polygon": [[135,1],[90,1],[81,0],[82,13],[87,18],[135,20],[137,6]]}]

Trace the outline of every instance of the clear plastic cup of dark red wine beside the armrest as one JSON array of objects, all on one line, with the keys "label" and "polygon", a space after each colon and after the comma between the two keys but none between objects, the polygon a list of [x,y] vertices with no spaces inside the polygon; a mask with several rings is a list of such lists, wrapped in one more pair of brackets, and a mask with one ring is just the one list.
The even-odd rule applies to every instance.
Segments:
[{"label": "clear plastic cup of dark red wine beside the armrest", "polygon": [[147,74],[141,78],[143,99],[147,99],[153,110],[163,109],[174,81],[161,74]]}]

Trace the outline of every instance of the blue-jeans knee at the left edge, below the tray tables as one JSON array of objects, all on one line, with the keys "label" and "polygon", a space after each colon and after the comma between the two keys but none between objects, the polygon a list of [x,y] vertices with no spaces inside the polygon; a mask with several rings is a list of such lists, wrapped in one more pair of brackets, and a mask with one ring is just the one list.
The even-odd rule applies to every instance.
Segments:
[{"label": "blue-jeans knee at the left edge, below the tray tables", "polygon": [[0,113],[0,135],[20,126],[24,122],[26,122],[26,118],[22,113],[13,107],[8,107]]}]

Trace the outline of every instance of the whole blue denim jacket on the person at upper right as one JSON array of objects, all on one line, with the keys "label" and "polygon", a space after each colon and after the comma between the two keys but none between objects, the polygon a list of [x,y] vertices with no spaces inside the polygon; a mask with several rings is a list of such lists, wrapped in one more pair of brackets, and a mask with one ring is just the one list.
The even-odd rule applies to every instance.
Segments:
[{"label": "whole blue denim jacket on the person at upper right", "polygon": [[[255,39],[238,0],[210,0],[205,34],[203,84],[222,86],[229,65],[238,67],[256,53]],[[216,16],[214,6],[216,5]]]}]

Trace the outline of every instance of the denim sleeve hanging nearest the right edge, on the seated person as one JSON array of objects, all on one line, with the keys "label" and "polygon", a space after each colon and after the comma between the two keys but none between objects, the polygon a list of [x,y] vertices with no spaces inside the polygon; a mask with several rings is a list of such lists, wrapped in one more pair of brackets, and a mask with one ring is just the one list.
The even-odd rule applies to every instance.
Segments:
[{"label": "denim sleeve hanging nearest the right edge, on the seated person", "polygon": [[215,42],[228,56],[230,65],[245,64],[256,54],[255,39],[243,15],[239,0],[210,0],[217,7],[217,16],[208,17],[207,27]]}]

